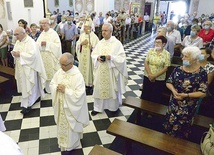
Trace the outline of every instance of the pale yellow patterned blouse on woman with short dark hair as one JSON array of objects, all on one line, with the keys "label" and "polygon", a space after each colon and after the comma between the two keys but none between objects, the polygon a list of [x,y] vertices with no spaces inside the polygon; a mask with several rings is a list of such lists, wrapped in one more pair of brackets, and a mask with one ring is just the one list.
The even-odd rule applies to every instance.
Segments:
[{"label": "pale yellow patterned blouse on woman with short dark hair", "polygon": [[[161,71],[164,67],[170,66],[170,53],[167,50],[163,50],[160,54],[157,54],[154,48],[149,49],[146,56],[148,61],[149,69],[152,74],[156,74]],[[148,77],[146,70],[144,70],[144,76]],[[166,72],[158,76],[155,80],[164,81],[166,78]]]}]

